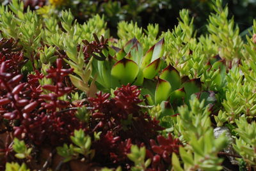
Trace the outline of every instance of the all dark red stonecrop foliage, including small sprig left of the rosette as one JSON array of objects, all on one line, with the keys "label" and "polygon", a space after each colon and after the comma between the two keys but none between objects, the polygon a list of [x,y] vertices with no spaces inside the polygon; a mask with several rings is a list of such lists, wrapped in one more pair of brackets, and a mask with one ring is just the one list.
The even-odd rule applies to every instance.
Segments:
[{"label": "all dark red stonecrop foliage, including small sprig left of the rosette", "polygon": [[[99,41],[97,36],[92,43],[84,41],[84,56],[102,60],[102,50],[108,48],[107,41],[104,38]],[[131,170],[133,163],[127,154],[131,152],[131,145],[136,144],[147,148],[147,158],[152,159],[148,170],[170,167],[172,152],[178,153],[181,144],[172,135],[159,136],[163,128],[141,107],[143,100],[138,87],[122,85],[113,97],[100,92],[96,98],[74,103],[70,101],[70,93],[75,89],[67,77],[73,69],[64,63],[64,54],[46,75],[34,70],[33,74],[23,77],[20,70],[26,60],[19,50],[16,41],[0,40],[0,135],[8,133],[36,147],[56,147],[70,144],[74,130],[83,129],[92,137],[92,149],[95,150],[94,158],[86,161],[88,163]],[[51,78],[52,84],[40,85],[39,81],[44,78]],[[63,100],[63,96],[68,100]],[[88,123],[82,123],[75,115],[74,107],[84,103],[90,114]],[[93,138],[95,132],[100,132],[99,138]],[[4,162],[13,161],[13,158],[10,160],[11,152],[10,143],[3,144],[0,140],[0,168]]]}]

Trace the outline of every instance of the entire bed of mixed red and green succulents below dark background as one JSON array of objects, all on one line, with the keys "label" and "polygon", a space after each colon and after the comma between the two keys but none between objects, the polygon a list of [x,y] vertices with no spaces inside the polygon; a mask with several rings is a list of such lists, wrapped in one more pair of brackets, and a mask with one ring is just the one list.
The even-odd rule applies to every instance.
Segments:
[{"label": "entire bed of mixed red and green succulents below dark background", "polygon": [[206,34],[181,10],[115,38],[28,6],[0,6],[0,170],[256,170],[256,20],[216,0]]}]

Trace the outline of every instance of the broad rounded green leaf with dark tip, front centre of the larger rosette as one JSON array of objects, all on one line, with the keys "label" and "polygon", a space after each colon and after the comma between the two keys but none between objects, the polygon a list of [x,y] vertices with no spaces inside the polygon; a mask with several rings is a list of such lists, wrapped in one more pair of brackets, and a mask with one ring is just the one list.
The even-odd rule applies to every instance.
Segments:
[{"label": "broad rounded green leaf with dark tip, front centre of the larger rosette", "polygon": [[139,66],[130,59],[122,59],[118,61],[111,70],[111,75],[122,84],[128,84],[134,81],[139,72]]}]

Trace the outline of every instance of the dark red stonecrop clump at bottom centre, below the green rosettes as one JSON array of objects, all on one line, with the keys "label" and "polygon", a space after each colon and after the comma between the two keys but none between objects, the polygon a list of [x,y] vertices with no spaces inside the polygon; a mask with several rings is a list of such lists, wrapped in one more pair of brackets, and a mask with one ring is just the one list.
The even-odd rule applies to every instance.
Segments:
[{"label": "dark red stonecrop clump at bottom centre, below the green rosettes", "polygon": [[[127,154],[131,144],[137,144],[147,147],[148,158],[154,160],[152,168],[168,168],[170,161],[166,161],[172,152],[177,152],[179,140],[173,140],[171,135],[166,139],[157,137],[157,131],[163,128],[159,126],[159,121],[151,119],[138,105],[142,102],[138,87],[123,85],[114,94],[115,97],[111,99],[109,94],[102,93],[97,94],[97,98],[88,98],[93,107],[90,129],[102,132],[100,139],[93,144],[93,149],[96,149],[94,160],[102,161],[105,165],[116,163],[129,169],[132,163],[127,159]],[[156,137],[159,146],[153,143]]]}]

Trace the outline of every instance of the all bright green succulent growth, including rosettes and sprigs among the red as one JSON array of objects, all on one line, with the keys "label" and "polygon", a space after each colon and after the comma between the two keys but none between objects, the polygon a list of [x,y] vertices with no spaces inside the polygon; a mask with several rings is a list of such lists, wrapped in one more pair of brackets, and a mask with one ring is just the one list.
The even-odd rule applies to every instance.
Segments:
[{"label": "all bright green succulent growth, including rosettes and sprigs among the red", "polygon": [[[156,105],[149,113],[168,128],[161,133],[172,132],[184,142],[180,159],[172,155],[174,170],[222,168],[218,152],[227,145],[227,139],[214,138],[215,124],[236,130],[234,149],[248,166],[255,168],[256,21],[253,33],[246,35],[246,42],[242,41],[234,19],[228,19],[227,6],[223,8],[222,1],[216,0],[215,13],[209,16],[209,34],[199,38],[188,10],[180,11],[178,26],[161,36],[157,24],[143,30],[134,22],[120,22],[117,33],[120,39],[109,41],[109,46],[117,48],[105,50],[103,61],[91,57],[85,63],[83,40],[93,41],[93,33],[111,38],[104,17],[95,15],[79,24],[70,11],[62,11],[61,17],[44,17],[31,10],[24,13],[24,5],[19,2],[13,0],[10,6],[0,7],[0,30],[1,37],[19,40],[24,56],[29,59],[24,66],[26,72],[41,68],[45,73],[56,61],[56,53],[63,50],[67,54],[65,62],[74,68],[70,80],[83,92],[73,94],[72,101],[90,96],[91,87],[96,85],[97,90],[108,93],[122,84],[141,86],[145,103]],[[40,84],[52,81],[43,78]],[[44,90],[45,93],[49,92]],[[213,105],[211,111],[209,103]],[[83,123],[90,121],[86,108],[79,108],[76,117]],[[215,123],[211,122],[213,118]],[[99,136],[100,132],[94,133],[95,139]],[[64,162],[76,159],[79,154],[93,158],[92,139],[84,131],[75,131],[71,140],[73,144],[57,148]],[[17,158],[30,157],[31,148],[24,141],[15,139],[13,150]],[[132,146],[128,157],[135,163],[133,170],[150,165],[150,161],[145,161],[143,147]],[[27,169],[25,165],[8,163],[6,170]]]}]

